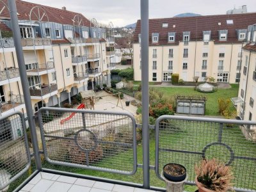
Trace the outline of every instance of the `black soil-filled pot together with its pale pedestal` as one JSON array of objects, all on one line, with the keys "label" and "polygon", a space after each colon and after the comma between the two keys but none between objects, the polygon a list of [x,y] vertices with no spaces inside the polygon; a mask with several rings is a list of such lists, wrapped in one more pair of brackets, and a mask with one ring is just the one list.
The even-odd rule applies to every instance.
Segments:
[{"label": "black soil-filled pot together with its pale pedestal", "polygon": [[167,192],[182,192],[184,182],[188,178],[186,168],[177,163],[168,163],[164,165],[162,176],[166,182]]}]

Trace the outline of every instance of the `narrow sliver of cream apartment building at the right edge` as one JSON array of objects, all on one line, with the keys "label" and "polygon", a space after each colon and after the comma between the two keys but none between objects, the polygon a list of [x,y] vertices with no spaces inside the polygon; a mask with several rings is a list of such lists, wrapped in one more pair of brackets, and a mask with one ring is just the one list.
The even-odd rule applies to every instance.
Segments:
[{"label": "narrow sliver of cream apartment building at the right edge", "polygon": [[242,120],[256,120],[256,24],[248,26],[246,45],[243,47],[239,93],[232,101]]}]

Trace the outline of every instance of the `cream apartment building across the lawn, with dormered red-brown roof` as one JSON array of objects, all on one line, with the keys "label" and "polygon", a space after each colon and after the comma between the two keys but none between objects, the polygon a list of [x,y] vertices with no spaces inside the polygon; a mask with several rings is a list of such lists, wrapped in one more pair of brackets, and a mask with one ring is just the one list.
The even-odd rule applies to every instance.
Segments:
[{"label": "cream apartment building across the lawn, with dormered red-brown roof", "polygon": [[[238,83],[247,27],[256,13],[173,17],[149,20],[149,79],[184,81],[211,76],[218,83]],[[141,81],[140,26],[134,33],[134,80]]]}]

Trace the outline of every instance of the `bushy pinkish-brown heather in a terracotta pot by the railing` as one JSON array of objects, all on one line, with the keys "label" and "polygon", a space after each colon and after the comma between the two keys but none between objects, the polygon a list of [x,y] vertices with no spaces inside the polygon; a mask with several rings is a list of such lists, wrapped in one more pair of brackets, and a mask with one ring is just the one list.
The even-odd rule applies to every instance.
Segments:
[{"label": "bushy pinkish-brown heather in a terracotta pot by the railing", "polygon": [[203,159],[195,165],[195,182],[199,192],[224,192],[232,188],[234,178],[230,166],[216,161]]}]

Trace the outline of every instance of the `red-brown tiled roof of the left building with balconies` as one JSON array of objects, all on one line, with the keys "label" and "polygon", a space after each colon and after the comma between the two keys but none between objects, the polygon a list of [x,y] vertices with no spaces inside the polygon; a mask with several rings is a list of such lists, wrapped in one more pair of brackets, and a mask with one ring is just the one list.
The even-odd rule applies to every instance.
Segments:
[{"label": "red-brown tiled roof of the left building with balconies", "polygon": [[[3,2],[8,4],[7,0],[3,0]],[[62,10],[58,8],[53,8],[51,6],[44,6],[41,4],[29,3],[26,1],[20,1],[20,0],[16,0],[16,5],[17,5],[17,12],[19,13],[18,14],[19,20],[30,20],[29,15],[32,8],[34,8],[36,14],[38,14],[38,11],[35,9],[35,7],[38,6],[42,8],[40,11],[41,17],[43,15],[43,12],[45,11],[47,13],[47,16],[50,22],[58,22],[61,24],[73,25],[72,19],[74,19],[75,15],[80,15],[83,20],[82,22],[83,26],[90,27],[90,20],[86,19],[86,17],[84,17],[81,13],[70,12],[68,10]],[[3,12],[1,13],[1,17],[10,18],[10,13],[8,12],[7,8],[4,8]],[[31,18],[32,20],[38,20],[35,17],[35,14],[33,13],[31,14]],[[47,17],[43,17],[42,20],[47,22],[48,19]]]}]

